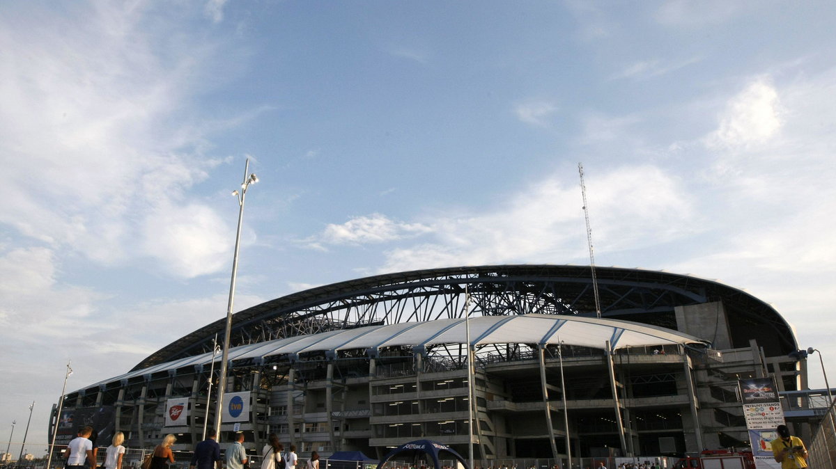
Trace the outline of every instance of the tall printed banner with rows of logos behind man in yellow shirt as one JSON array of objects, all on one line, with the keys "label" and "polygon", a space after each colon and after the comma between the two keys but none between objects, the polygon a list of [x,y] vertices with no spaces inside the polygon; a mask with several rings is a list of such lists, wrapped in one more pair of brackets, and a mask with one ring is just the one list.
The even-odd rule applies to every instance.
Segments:
[{"label": "tall printed banner with rows of logos behind man in yellow shirt", "polygon": [[775,381],[772,378],[750,378],[737,384],[755,466],[757,469],[781,469],[781,463],[772,457],[770,446],[772,440],[778,437],[776,427],[784,423]]}]

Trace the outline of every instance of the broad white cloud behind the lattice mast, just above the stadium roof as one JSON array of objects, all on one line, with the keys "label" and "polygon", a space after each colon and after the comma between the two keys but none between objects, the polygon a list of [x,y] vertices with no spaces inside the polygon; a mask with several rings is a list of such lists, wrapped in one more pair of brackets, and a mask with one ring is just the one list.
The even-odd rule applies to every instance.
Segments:
[{"label": "broad white cloud behind the lattice mast, just above the stadium roof", "polygon": [[[435,241],[389,250],[380,270],[583,260],[583,202],[577,181],[566,174],[532,184],[492,212],[423,222]],[[694,230],[691,201],[680,182],[653,166],[612,169],[587,188],[596,251],[637,249]]]}]

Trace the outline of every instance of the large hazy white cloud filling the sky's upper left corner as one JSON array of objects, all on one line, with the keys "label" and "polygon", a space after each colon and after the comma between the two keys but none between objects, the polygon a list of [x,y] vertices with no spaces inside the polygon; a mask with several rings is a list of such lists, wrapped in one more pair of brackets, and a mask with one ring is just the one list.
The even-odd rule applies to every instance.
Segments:
[{"label": "large hazy white cloud filling the sky's upper left corner", "polygon": [[[145,253],[172,275],[200,275],[220,266],[213,242],[228,230],[205,201],[187,195],[218,162],[201,156],[203,130],[177,113],[213,46],[182,37],[159,54],[163,45],[140,31],[150,21],[145,13],[95,3],[31,17],[52,28],[0,18],[0,184],[10,194],[0,199],[0,223],[104,265]],[[74,27],[74,15],[85,17],[84,28]],[[171,16],[153,17],[162,22],[154,27],[173,28]],[[179,249],[182,240],[156,249],[145,220],[184,215],[204,229],[192,233],[189,249]]]}]

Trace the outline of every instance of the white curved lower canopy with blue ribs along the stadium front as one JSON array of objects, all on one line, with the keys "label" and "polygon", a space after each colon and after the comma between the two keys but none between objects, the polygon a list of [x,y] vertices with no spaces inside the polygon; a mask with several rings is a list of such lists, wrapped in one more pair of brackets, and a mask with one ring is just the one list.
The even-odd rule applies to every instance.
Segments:
[{"label": "white curved lower canopy with blue ribs along the stadium front", "polygon": [[[467,321],[456,318],[405,322],[349,330],[331,330],[314,335],[297,335],[235,347],[229,352],[229,360],[262,359],[279,355],[296,356],[300,353],[316,351],[335,353],[340,350],[378,350],[403,345],[421,349],[432,345],[466,344],[467,327],[470,328],[470,344],[473,346],[563,343],[604,349],[607,340],[613,349],[642,345],[706,345],[705,340],[691,335],[630,321],[529,314],[478,316]],[[219,355],[213,356],[212,353],[206,353],[130,371],[107,381],[120,381],[160,371],[172,371],[184,366],[208,366],[217,359],[220,359]]]}]

